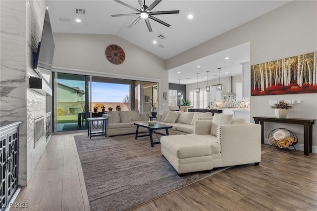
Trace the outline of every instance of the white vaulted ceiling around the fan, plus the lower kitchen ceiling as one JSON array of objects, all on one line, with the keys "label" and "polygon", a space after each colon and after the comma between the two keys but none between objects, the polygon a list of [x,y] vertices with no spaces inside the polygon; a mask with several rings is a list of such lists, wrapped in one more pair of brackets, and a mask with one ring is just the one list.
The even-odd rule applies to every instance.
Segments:
[{"label": "white vaulted ceiling around the fan, plus the lower kitchen ceiling", "polygon": [[[140,9],[138,0],[122,0],[122,2]],[[154,0],[146,0],[145,4],[150,6],[153,2]],[[290,0],[162,0],[152,11],[180,10],[180,12],[154,15],[171,26],[168,28],[150,19],[153,32],[149,32],[144,20],[128,28],[139,15],[111,17],[111,14],[136,13],[114,0],[46,0],[53,32],[114,34],[163,59],[171,58],[288,2]],[[85,14],[77,14],[76,9],[85,9]],[[188,19],[187,16],[190,14],[193,15],[193,19]],[[80,23],[75,22],[78,18],[81,19]],[[157,43],[154,44],[153,41]],[[229,51],[234,53],[234,49]],[[240,51],[240,58],[234,56],[236,61],[231,67],[248,59],[249,52],[246,53],[242,54]],[[216,59],[218,57],[215,55],[213,57],[215,60],[212,60],[212,67],[221,67],[224,62],[228,63],[224,59]],[[209,65],[207,61],[208,59],[205,58],[204,65]],[[199,63],[196,61],[195,65],[203,67]],[[209,67],[211,68],[211,64]],[[190,64],[182,66],[183,73],[190,70],[192,71]],[[177,69],[169,70],[170,83],[178,84],[180,76],[173,74],[177,72]],[[196,78],[192,78],[193,81],[188,80],[186,84],[194,83]],[[185,82],[182,80],[181,84]]]}]

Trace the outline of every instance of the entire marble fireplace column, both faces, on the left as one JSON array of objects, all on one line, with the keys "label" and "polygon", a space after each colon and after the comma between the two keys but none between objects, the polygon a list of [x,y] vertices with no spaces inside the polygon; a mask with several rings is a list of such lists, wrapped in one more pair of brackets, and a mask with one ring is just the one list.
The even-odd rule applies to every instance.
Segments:
[{"label": "entire marble fireplace column, both faces, on the left", "polygon": [[[23,121],[19,136],[19,184],[27,185],[46,147],[34,146],[34,118],[45,116],[46,97],[28,87],[33,50],[41,40],[43,0],[0,0],[0,121]],[[45,130],[44,130],[45,131]]]}]

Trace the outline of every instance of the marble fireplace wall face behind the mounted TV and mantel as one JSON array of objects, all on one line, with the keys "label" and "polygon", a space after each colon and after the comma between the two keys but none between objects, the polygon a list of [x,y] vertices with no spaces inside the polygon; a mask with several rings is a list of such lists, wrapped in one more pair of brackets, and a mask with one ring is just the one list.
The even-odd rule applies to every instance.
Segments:
[{"label": "marble fireplace wall face behind the mounted TV and mantel", "polygon": [[[26,0],[26,77],[39,77],[33,69],[33,51],[41,41],[46,4],[43,0]],[[27,86],[28,87],[28,80]],[[34,146],[34,119],[45,116],[46,96],[27,88],[27,180],[29,180],[46,147],[44,134]],[[43,126],[45,127],[45,125]],[[44,128],[45,131],[45,128]]]}]

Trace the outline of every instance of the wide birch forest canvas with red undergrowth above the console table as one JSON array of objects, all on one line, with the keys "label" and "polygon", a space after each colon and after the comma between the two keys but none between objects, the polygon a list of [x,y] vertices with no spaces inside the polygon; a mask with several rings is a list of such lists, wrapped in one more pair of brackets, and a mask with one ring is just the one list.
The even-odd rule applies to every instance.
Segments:
[{"label": "wide birch forest canvas with red undergrowth above the console table", "polygon": [[317,92],[316,52],[251,66],[251,95]]}]

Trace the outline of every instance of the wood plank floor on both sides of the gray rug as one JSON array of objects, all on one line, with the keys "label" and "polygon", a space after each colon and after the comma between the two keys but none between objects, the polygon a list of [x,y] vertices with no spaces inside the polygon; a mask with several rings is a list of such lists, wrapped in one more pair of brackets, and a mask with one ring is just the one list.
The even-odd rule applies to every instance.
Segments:
[{"label": "wood plank floor on both sides of the gray rug", "polygon": [[[32,211],[89,211],[73,135],[53,135],[15,203]],[[296,145],[295,145],[296,147]],[[317,211],[317,154],[262,145],[260,166],[221,171],[133,211]],[[18,210],[19,208],[11,208]]]}]

